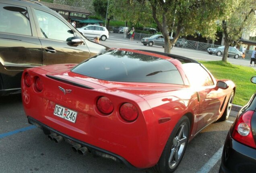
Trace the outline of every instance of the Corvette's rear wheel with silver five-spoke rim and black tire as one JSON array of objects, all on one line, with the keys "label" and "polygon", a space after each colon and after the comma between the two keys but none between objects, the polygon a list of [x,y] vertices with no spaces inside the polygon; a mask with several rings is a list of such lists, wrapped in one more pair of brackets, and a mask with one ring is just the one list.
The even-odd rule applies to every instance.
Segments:
[{"label": "Corvette's rear wheel with silver five-spoke rim and black tire", "polygon": [[159,173],[172,173],[177,169],[185,153],[188,138],[190,136],[190,121],[187,116],[183,116],[175,125],[163,153],[155,165]]}]

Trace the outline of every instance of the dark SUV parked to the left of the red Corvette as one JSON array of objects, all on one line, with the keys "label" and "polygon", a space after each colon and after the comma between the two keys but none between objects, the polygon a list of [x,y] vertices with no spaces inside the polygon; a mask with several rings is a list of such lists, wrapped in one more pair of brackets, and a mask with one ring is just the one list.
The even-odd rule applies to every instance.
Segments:
[{"label": "dark SUV parked to the left of the red Corvette", "polygon": [[25,68],[79,63],[107,49],[32,0],[1,0],[0,19],[0,96],[20,92]]}]

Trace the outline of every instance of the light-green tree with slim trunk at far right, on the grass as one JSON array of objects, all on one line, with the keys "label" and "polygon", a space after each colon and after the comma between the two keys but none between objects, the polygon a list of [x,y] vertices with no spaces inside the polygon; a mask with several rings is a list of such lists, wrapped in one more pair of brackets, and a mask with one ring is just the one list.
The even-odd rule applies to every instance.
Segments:
[{"label": "light-green tree with slim trunk at far right, on the grass", "polygon": [[231,0],[229,11],[222,20],[224,34],[224,53],[222,60],[227,62],[229,45],[239,42],[242,32],[256,28],[256,1]]}]

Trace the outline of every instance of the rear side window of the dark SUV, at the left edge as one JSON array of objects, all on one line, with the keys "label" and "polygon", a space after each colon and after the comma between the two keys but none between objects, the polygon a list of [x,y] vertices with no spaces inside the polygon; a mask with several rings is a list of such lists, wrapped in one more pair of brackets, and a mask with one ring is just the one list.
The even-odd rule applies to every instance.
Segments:
[{"label": "rear side window of the dark SUV, at the left edge", "polygon": [[26,7],[0,4],[0,32],[32,36]]}]

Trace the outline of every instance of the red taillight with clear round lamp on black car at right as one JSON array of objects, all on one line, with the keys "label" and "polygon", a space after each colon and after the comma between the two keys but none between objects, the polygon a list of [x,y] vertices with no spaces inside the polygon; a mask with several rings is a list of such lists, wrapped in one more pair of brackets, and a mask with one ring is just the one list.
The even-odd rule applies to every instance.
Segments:
[{"label": "red taillight with clear round lamp on black car at right", "polygon": [[254,111],[247,111],[241,115],[238,121],[235,123],[235,127],[232,132],[232,137],[236,141],[256,148],[254,138],[252,135],[251,119]]}]

